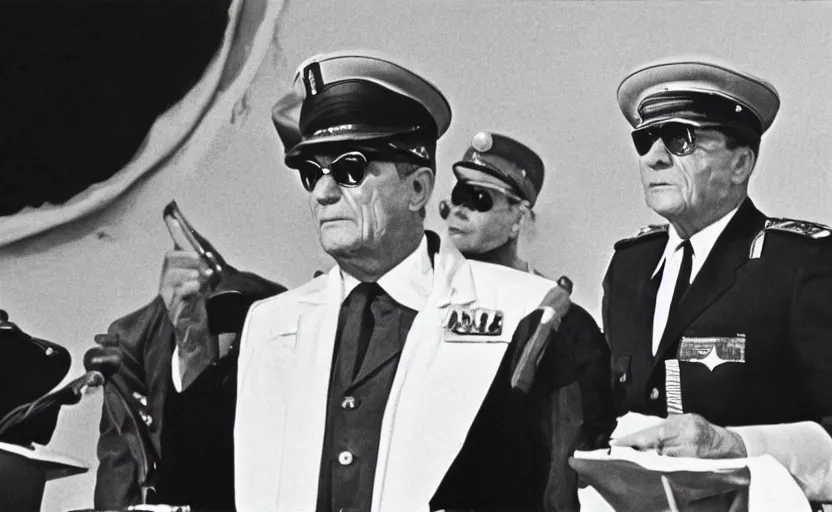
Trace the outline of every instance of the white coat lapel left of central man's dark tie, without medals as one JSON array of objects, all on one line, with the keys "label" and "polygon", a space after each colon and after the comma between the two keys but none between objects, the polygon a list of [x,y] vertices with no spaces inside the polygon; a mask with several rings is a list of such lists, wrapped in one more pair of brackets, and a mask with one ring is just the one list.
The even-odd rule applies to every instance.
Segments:
[{"label": "white coat lapel left of central man's dark tie, without medals", "polygon": [[287,427],[283,438],[277,510],[315,510],[324,443],[326,403],[343,280],[338,267],[329,272],[323,293],[304,310],[298,322],[298,340],[287,389]]}]

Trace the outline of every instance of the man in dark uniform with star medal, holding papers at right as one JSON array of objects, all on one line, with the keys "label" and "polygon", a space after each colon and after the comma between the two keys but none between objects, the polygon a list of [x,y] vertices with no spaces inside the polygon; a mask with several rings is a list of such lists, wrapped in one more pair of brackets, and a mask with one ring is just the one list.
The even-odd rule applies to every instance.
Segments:
[{"label": "man in dark uniform with star medal, holding papers at right", "polygon": [[748,197],[780,105],[724,65],[642,68],[618,89],[647,205],[669,222],[615,244],[604,328],[619,413],[665,417],[611,444],[770,454],[832,498],[832,237]]}]

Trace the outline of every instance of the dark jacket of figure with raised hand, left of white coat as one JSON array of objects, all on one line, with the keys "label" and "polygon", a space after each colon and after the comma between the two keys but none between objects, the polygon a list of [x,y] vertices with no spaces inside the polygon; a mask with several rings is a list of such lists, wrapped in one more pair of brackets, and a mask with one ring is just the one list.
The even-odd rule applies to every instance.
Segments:
[{"label": "dark jacket of figure with raised hand, left of white coat", "polygon": [[[236,271],[233,283],[235,288],[255,293],[252,300],[285,290],[253,274]],[[219,364],[208,368],[183,393],[171,392],[175,339],[173,325],[158,296],[147,306],[113,322],[104,339],[97,341],[117,346],[123,362],[104,388],[95,507],[120,509],[142,503],[139,477],[141,466],[147,461],[155,475],[149,483],[158,491],[148,496],[148,502],[233,509],[238,352],[232,351]],[[135,393],[128,400],[133,400],[131,406],[150,418],[149,427],[136,428],[115,386],[128,395]],[[165,428],[172,411],[178,413],[173,420],[177,431],[188,422],[200,425],[188,434],[187,442],[171,439],[176,434]],[[142,430],[147,434],[144,439]],[[169,447],[168,453],[163,453],[163,446]]]}]

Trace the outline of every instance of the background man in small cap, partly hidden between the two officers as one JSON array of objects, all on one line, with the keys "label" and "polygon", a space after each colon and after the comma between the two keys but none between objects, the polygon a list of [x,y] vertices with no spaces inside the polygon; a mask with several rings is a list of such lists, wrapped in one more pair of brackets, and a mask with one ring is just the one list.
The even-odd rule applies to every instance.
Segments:
[{"label": "background man in small cap, partly hidden between the two officers", "polygon": [[[532,208],[543,187],[540,157],[510,137],[479,132],[453,171],[457,182],[450,201],[440,203],[440,215],[457,249],[469,259],[541,275],[520,258],[518,248],[523,225],[533,220]],[[571,282],[566,277],[558,282],[562,280],[571,293]],[[590,450],[606,445],[615,428],[610,350],[585,309],[571,302],[567,308],[562,308],[566,311],[558,332],[575,350],[588,436],[578,447]]]}]

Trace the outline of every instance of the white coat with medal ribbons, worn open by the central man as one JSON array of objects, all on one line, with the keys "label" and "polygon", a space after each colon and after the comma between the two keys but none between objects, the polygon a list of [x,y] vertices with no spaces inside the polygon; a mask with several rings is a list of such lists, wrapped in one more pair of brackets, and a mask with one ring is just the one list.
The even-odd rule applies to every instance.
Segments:
[{"label": "white coat with medal ribbons, worn open by the central man", "polygon": [[[538,276],[468,261],[453,244],[441,244],[432,291],[407,336],[384,413],[374,512],[428,510],[517,324],[553,286]],[[240,511],[315,510],[342,287],[335,267],[249,311],[234,431]],[[457,306],[502,312],[502,334],[446,331]]]}]

